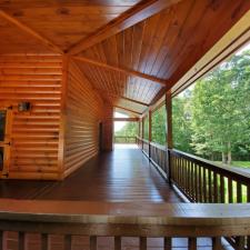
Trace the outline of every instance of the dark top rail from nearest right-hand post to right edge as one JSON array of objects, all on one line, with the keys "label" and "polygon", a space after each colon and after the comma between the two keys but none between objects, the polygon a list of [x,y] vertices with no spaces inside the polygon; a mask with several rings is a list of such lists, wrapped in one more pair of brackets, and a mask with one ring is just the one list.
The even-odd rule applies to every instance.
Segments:
[{"label": "dark top rail from nearest right-hand post to right edge", "polygon": [[220,166],[218,163],[214,163],[214,162],[211,162],[209,160],[206,160],[203,158],[200,158],[200,157],[196,157],[196,156],[192,156],[190,153],[186,153],[186,152],[182,152],[182,151],[179,151],[179,150],[176,150],[176,149],[171,149],[170,150],[173,154],[176,156],[180,156],[180,157],[183,157],[197,164],[200,164],[200,166],[204,166],[211,170],[214,170],[217,172],[220,172],[227,177],[230,177],[230,178],[237,178],[237,179],[240,179],[242,182],[244,182],[244,184],[249,184],[250,183],[250,173],[247,173],[247,172],[242,172],[240,170],[236,170],[236,169],[232,169],[230,167],[223,167],[223,166]]}]

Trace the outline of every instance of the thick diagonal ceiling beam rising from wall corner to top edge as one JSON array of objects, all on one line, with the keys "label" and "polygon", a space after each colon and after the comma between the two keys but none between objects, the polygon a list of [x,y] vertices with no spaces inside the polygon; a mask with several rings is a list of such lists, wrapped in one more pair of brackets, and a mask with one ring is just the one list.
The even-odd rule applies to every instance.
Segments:
[{"label": "thick diagonal ceiling beam rising from wall corner to top edge", "polygon": [[160,12],[161,10],[176,4],[181,0],[148,0],[141,1],[120,17],[116,18],[108,24],[103,26],[96,33],[82,39],[77,44],[68,49],[69,54],[77,54],[81,51],[103,41],[104,39],[131,27],[136,23],[150,18],[151,16]]}]

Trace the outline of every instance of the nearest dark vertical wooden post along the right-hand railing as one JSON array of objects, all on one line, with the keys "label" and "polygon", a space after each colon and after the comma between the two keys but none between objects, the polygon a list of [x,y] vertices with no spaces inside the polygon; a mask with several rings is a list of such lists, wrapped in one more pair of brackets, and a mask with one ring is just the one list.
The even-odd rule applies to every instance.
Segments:
[{"label": "nearest dark vertical wooden post along the right-hand railing", "polygon": [[171,183],[171,156],[170,149],[172,149],[172,99],[171,92],[168,91],[166,93],[166,112],[167,112],[167,126],[166,126],[166,146],[167,146],[167,157],[168,157],[168,179],[169,183]]}]

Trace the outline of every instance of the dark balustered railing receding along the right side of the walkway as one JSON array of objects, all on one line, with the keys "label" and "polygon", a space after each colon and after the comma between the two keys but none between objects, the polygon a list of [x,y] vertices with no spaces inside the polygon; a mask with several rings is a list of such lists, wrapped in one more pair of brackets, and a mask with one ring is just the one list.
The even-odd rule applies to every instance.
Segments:
[{"label": "dark balustered railing receding along the right side of the walkway", "polygon": [[[143,141],[140,138],[137,140]],[[146,154],[150,161],[191,202],[226,203],[224,209],[229,203],[250,202],[249,173],[174,149],[167,150],[166,147],[153,142],[148,142],[148,146],[149,153]],[[239,239],[231,237],[228,241],[236,246]],[[246,249],[250,249],[250,237],[244,238],[243,244]]]}]

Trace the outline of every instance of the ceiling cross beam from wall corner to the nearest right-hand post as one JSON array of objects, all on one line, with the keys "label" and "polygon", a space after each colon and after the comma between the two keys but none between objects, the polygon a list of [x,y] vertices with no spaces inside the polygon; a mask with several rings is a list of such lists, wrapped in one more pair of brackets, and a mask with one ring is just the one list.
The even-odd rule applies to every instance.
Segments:
[{"label": "ceiling cross beam from wall corner to the nearest right-hand post", "polygon": [[84,57],[73,57],[73,58],[78,61],[82,61],[82,62],[87,62],[87,63],[90,63],[90,64],[93,64],[93,66],[102,67],[107,70],[112,70],[112,71],[121,72],[121,73],[124,73],[124,74],[143,78],[146,80],[150,80],[150,81],[160,83],[162,86],[167,84],[167,81],[163,80],[163,79],[159,79],[159,78],[146,74],[146,73],[141,73],[139,71],[129,70],[129,69],[124,69],[124,68],[120,68],[120,67],[116,67],[116,66],[110,66],[110,64],[107,64],[104,62],[92,60],[90,58],[84,58]]}]

